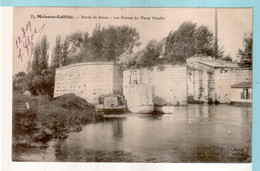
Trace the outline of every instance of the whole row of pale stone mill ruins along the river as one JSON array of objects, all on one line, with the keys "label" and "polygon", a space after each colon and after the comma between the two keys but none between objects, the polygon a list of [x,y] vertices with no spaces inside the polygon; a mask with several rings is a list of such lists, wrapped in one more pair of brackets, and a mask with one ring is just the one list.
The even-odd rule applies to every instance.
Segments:
[{"label": "whole row of pale stone mill ruins along the river", "polygon": [[[74,93],[94,103],[100,95],[119,94],[125,96],[128,105],[231,103],[234,86],[252,82],[252,70],[234,62],[196,55],[186,63],[125,71],[115,62],[72,64],[56,69],[54,97]],[[237,91],[242,98],[243,87]],[[245,97],[252,102],[252,95]]]}]

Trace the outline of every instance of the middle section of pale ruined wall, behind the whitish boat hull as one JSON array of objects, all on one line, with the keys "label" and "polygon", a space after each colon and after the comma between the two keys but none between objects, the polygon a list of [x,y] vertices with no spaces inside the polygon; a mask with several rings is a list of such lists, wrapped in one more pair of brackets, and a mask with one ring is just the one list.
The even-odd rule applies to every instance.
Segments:
[{"label": "middle section of pale ruined wall, behind the whitish boat hull", "polygon": [[151,69],[126,70],[123,79],[124,95],[129,94],[127,87],[144,84],[153,87],[153,99],[161,99],[159,103],[187,104],[186,66],[164,65]]}]

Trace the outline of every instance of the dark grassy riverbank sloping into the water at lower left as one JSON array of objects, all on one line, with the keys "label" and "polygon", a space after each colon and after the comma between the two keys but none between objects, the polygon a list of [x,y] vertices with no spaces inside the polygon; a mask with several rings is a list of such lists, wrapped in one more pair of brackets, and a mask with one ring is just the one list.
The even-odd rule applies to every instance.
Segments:
[{"label": "dark grassy riverbank sloping into the water at lower left", "polygon": [[[46,148],[51,139],[65,139],[88,123],[103,120],[92,104],[68,94],[46,96],[13,95],[13,154],[28,148]],[[13,155],[13,160],[16,160]]]}]

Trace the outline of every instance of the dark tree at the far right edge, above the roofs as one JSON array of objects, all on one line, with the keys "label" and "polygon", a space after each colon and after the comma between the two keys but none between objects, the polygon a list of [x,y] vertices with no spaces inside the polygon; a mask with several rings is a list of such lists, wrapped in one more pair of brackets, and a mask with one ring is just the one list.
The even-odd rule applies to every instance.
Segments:
[{"label": "dark tree at the far right edge, above the roofs", "polygon": [[243,39],[243,49],[238,49],[238,56],[241,58],[239,65],[241,67],[252,68],[253,56],[253,34],[245,34]]}]

